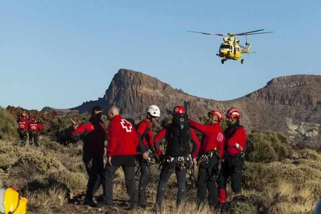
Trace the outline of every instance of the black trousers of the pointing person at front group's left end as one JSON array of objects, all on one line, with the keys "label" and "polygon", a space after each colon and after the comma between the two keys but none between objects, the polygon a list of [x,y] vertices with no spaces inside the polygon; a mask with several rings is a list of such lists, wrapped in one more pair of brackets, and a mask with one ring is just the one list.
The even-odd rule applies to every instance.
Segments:
[{"label": "black trousers of the pointing person at front group's left end", "polygon": [[103,155],[95,155],[89,151],[84,151],[83,162],[88,174],[88,183],[86,190],[86,199],[93,199],[95,192],[99,189],[102,182],[101,177],[104,172]]}]

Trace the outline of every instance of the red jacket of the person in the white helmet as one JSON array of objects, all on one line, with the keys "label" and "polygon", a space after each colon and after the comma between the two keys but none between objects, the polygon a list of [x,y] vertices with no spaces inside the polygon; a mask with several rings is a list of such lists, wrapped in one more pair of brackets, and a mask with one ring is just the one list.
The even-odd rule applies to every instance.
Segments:
[{"label": "red jacket of the person in the white helmet", "polygon": [[[143,134],[145,132],[145,136],[143,137]],[[139,139],[139,144],[138,144],[138,147],[139,147],[139,150],[144,152],[146,151],[146,147],[153,147],[153,138],[154,138],[154,135],[153,135],[153,131],[151,130],[151,123],[148,119],[143,119],[139,124],[138,124],[138,127],[137,127],[137,134],[138,136],[142,136],[143,137],[143,140],[142,139]]]}]

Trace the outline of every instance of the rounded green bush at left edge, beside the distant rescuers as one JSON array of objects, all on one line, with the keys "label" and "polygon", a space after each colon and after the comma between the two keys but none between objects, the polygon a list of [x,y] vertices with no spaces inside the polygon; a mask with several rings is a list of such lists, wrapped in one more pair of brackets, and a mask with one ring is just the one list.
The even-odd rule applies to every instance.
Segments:
[{"label": "rounded green bush at left edge, beside the distant rescuers", "polygon": [[0,140],[19,138],[17,121],[3,107],[0,107]]}]

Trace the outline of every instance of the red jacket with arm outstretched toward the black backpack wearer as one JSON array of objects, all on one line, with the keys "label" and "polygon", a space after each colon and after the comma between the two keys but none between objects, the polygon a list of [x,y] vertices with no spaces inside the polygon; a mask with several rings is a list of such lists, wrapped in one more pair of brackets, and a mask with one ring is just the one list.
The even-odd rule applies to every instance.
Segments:
[{"label": "red jacket with arm outstretched toward the black backpack wearer", "polygon": [[219,127],[219,123],[203,125],[189,119],[189,126],[203,133],[200,154],[211,151],[216,147],[219,158],[222,158],[224,151],[224,134],[221,127]]}]

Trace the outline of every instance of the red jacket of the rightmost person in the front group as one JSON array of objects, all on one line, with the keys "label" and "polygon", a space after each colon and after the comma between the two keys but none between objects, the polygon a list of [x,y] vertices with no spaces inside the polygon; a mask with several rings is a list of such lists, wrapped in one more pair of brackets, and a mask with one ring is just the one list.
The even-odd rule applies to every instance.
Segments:
[{"label": "red jacket of the rightmost person in the front group", "polygon": [[[224,149],[227,150],[229,156],[235,155],[243,151],[246,143],[246,135],[243,126],[237,126],[233,128],[227,128],[224,131],[225,143]],[[235,143],[238,143],[240,146],[235,147]]]}]

